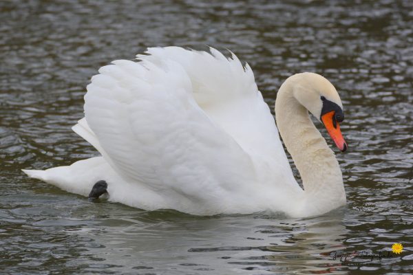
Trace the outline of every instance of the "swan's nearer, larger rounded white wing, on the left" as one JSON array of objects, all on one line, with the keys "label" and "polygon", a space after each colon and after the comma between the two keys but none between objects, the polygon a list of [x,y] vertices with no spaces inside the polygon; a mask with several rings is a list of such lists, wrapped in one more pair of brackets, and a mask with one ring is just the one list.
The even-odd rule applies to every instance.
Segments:
[{"label": "swan's nearer, larger rounded white wing, on the left", "polygon": [[200,108],[182,65],[114,61],[99,72],[87,86],[85,118],[127,181],[193,199],[254,184],[251,157]]}]

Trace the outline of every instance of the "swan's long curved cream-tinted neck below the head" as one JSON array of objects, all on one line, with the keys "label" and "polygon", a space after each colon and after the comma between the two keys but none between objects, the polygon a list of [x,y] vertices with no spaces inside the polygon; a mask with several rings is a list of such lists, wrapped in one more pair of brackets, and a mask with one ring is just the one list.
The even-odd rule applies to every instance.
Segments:
[{"label": "swan's long curved cream-tinted neck below the head", "polygon": [[298,211],[322,214],[346,203],[343,177],[335,154],[293,96],[293,85],[287,80],[277,94],[277,127],[303,181],[305,199]]}]

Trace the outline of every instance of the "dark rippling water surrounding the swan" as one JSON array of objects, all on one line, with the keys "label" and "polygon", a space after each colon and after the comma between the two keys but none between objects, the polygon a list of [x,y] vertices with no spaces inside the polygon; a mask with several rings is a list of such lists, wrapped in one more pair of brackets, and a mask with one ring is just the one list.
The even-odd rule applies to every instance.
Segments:
[{"label": "dark rippling water surrounding the swan", "polygon": [[[413,272],[412,1],[1,1],[0,12],[1,274]],[[326,76],[345,106],[348,205],[309,219],[194,217],[25,177],[96,155],[70,129],[89,78],[153,45],[231,49],[271,107],[291,74]],[[392,258],[332,257],[396,242]]]}]

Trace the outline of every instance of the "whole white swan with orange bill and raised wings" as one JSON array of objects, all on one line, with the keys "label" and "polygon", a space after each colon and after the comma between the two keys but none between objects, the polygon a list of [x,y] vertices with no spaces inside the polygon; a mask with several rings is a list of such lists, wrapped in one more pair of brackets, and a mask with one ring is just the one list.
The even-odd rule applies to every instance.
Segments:
[{"label": "whole white swan with orange bill and raised wings", "polygon": [[102,156],[25,173],[81,195],[103,179],[110,201],[145,210],[307,217],[346,204],[335,154],[308,114],[346,150],[341,100],[326,78],[291,76],[275,103],[303,190],[248,64],[214,49],[156,47],[137,57],[100,68],[87,86],[73,130]]}]

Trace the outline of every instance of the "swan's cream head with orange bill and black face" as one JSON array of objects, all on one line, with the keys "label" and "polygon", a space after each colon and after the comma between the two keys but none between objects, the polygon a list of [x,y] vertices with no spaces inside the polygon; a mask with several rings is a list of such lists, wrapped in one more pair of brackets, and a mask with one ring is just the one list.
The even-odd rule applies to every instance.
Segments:
[{"label": "swan's cream head with orange bill and black face", "polygon": [[320,120],[340,151],[347,149],[341,135],[340,123],[344,120],[343,104],[335,87],[323,76],[313,73],[297,74],[294,97]]}]

